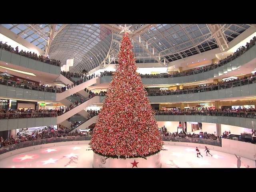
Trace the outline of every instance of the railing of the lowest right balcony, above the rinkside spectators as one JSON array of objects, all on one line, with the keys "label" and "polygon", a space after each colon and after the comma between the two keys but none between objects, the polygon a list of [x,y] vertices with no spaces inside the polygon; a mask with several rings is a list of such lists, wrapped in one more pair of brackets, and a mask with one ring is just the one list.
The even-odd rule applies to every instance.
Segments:
[{"label": "railing of the lowest right balcony, above the rinkside spectators", "polygon": [[209,115],[256,119],[256,112],[158,111],[155,115]]}]

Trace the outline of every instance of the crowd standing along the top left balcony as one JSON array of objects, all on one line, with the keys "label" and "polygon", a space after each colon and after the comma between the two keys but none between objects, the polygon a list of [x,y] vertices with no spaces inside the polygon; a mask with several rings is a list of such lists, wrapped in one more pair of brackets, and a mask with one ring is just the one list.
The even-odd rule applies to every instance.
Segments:
[{"label": "crowd standing along the top left balcony", "polygon": [[44,62],[44,63],[48,63],[48,64],[52,64],[52,65],[56,65],[56,66],[60,66],[61,65],[61,62],[60,60],[56,60],[56,59],[49,59],[48,56],[43,56],[43,55],[37,55],[36,53],[32,53],[31,51],[30,52],[26,52],[26,51],[19,51],[19,48],[18,46],[15,48],[10,46],[10,45],[7,45],[6,44],[7,42],[5,43],[2,43],[2,41],[0,41],[0,48],[6,50],[6,51],[10,51],[10,52],[13,52],[13,53],[16,53],[16,54],[19,54],[19,55],[22,55],[22,56],[25,56],[25,57],[28,57],[28,58],[31,58],[31,59],[34,59],[34,60],[37,60],[37,61],[41,61],[41,62]]}]

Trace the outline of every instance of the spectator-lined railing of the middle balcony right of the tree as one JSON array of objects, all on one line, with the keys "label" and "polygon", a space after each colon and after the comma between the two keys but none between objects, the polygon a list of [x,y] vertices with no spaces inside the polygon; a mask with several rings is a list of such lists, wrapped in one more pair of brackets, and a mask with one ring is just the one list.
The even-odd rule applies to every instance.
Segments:
[{"label": "spectator-lined railing of the middle balcony right of the tree", "polygon": [[226,82],[224,84],[212,85],[207,87],[200,87],[188,90],[176,90],[176,91],[167,91],[167,92],[157,92],[157,93],[148,93],[148,96],[163,96],[163,95],[181,95],[181,94],[190,94],[190,93],[200,93],[206,91],[215,91],[227,88],[234,88],[243,85],[256,83],[256,76],[252,78],[242,79],[235,82]]}]

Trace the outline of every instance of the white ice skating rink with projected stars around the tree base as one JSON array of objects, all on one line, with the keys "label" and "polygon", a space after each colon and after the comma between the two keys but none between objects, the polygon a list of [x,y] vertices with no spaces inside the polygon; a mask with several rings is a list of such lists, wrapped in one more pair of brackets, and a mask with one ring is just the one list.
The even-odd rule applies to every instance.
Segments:
[{"label": "white ice skating rink with projected stars around the tree base", "polygon": [[[89,149],[89,145],[83,144],[33,150],[0,159],[0,168],[92,168],[93,152]],[[237,168],[234,154],[210,150],[211,157],[199,148],[203,158],[198,158],[192,147],[166,145],[164,149],[162,168]],[[139,163],[137,166],[140,168]],[[241,157],[240,168],[255,168],[255,161]]]}]

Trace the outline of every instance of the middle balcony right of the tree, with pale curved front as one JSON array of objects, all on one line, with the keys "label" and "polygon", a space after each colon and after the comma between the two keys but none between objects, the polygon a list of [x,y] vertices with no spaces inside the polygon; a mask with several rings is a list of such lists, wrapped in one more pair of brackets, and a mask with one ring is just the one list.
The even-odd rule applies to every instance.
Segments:
[{"label": "middle balcony right of the tree, with pale curved front", "polygon": [[[104,94],[101,94],[104,95]],[[189,90],[176,90],[169,93],[150,93],[148,97],[151,103],[171,103],[204,100],[234,99],[256,96],[256,76],[246,80],[227,82],[225,84]],[[104,96],[100,96],[100,103]]]}]

